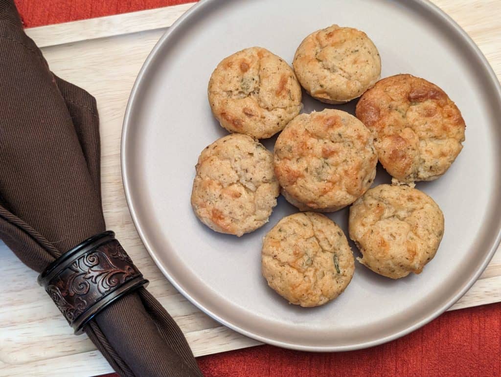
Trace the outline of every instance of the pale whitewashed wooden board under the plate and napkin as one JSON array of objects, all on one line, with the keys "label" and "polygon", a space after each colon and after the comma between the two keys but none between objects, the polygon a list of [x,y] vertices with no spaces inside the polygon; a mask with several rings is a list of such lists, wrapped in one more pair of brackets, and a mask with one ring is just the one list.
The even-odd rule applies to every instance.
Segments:
[{"label": "pale whitewashed wooden board under the plate and napkin", "polygon": [[[499,0],[434,0],[478,44],[501,77]],[[165,29],[193,4],[27,30],[51,69],[89,91],[101,118],[102,191],[108,229],[150,280],[148,289],[175,318],[195,355],[259,342],[219,325],[181,296],[142,245],[122,188],[120,134],[130,90],[139,69]],[[36,283],[37,274],[0,242],[0,375],[88,376],[112,371],[85,336],[74,336],[56,306]],[[501,301],[501,251],[451,310]],[[71,369],[69,369],[71,367]]]}]

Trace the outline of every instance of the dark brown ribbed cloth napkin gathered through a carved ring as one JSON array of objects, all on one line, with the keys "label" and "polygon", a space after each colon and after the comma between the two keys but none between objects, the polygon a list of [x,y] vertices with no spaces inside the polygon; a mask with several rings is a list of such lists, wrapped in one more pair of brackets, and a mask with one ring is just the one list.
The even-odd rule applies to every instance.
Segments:
[{"label": "dark brown ribbed cloth napkin gathered through a carved ring", "polygon": [[[104,230],[96,101],[50,72],[13,0],[0,0],[0,237],[41,272]],[[144,288],[85,332],[120,375],[202,375],[181,330]]]}]

